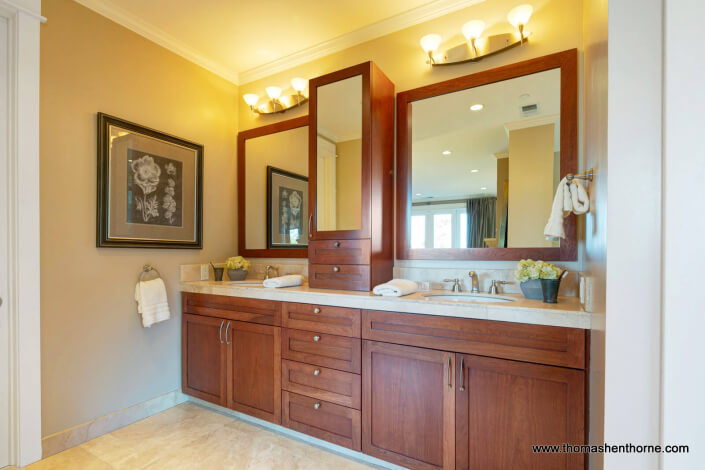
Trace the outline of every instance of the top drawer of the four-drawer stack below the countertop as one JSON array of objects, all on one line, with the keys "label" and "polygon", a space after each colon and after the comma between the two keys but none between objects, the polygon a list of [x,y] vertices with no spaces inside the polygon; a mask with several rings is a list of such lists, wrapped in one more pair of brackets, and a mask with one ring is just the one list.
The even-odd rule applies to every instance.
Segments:
[{"label": "top drawer of the four-drawer stack below the countertop", "polygon": [[360,337],[360,310],[326,305],[285,303],[282,325],[298,330]]}]

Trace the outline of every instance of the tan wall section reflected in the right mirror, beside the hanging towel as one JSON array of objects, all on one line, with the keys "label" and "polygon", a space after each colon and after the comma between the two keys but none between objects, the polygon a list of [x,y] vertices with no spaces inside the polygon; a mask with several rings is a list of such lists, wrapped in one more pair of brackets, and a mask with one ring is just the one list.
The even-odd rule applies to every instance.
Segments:
[{"label": "tan wall section reflected in the right mirror, beside the hanging towel", "polygon": [[543,229],[553,203],[554,125],[509,132],[507,246],[553,246]]}]

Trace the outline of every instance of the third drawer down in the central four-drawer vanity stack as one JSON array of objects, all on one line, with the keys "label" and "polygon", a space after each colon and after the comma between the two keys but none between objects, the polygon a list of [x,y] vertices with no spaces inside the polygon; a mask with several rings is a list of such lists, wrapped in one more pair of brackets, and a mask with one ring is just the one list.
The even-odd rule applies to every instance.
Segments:
[{"label": "third drawer down in the central four-drawer vanity stack", "polygon": [[282,388],[307,397],[360,409],[360,376],[350,372],[282,361]]}]

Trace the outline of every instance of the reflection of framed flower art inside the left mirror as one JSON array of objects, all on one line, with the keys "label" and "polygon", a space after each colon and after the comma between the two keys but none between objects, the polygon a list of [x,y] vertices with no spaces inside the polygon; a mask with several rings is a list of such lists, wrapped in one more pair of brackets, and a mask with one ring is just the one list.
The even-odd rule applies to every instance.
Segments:
[{"label": "reflection of framed flower art inside the left mirror", "polygon": [[267,248],[308,247],[308,178],[267,166]]}]

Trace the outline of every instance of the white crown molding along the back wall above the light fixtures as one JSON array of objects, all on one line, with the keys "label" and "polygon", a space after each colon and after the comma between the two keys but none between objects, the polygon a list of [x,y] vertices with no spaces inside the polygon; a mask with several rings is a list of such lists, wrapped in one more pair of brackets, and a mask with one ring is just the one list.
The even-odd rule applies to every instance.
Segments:
[{"label": "white crown molding along the back wall above the light fixtures", "polygon": [[362,28],[343,34],[329,41],[240,72],[238,74],[238,82],[240,84],[253,82],[260,78],[265,78],[296,67],[297,65],[305,64],[335,52],[340,52],[357,44],[400,31],[478,3],[483,3],[484,1],[485,0],[435,0],[426,5],[421,5],[376,23],[363,26]]}]

